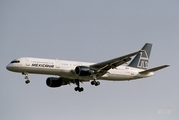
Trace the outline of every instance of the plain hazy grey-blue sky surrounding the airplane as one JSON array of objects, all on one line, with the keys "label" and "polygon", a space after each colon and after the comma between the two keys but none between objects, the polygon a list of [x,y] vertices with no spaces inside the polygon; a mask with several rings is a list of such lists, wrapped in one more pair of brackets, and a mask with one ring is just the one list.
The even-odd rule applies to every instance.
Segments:
[{"label": "plain hazy grey-blue sky surrounding the airplane", "polygon": [[[1,120],[178,120],[178,0],[0,0]],[[102,62],[153,43],[149,67],[136,81],[101,81],[52,89],[47,75],[6,70],[18,57]]]}]

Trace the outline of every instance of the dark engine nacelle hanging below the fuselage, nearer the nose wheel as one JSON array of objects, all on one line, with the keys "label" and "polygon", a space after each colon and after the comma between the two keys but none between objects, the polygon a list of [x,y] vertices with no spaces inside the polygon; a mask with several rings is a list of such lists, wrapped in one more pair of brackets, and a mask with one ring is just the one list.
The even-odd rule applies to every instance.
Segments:
[{"label": "dark engine nacelle hanging below the fuselage, nearer the nose wheel", "polygon": [[49,87],[60,87],[62,85],[67,85],[68,83],[63,81],[61,78],[49,77],[46,80],[46,84]]}]

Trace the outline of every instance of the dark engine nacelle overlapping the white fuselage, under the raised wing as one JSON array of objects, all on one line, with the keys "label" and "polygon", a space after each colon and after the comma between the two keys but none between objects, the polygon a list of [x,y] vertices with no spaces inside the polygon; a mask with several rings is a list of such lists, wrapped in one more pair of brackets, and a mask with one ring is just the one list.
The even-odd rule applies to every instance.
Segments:
[{"label": "dark engine nacelle overlapping the white fuselage, under the raised wing", "polygon": [[75,73],[78,76],[89,76],[94,73],[93,70],[90,69],[90,67],[87,66],[77,66],[75,68]]}]

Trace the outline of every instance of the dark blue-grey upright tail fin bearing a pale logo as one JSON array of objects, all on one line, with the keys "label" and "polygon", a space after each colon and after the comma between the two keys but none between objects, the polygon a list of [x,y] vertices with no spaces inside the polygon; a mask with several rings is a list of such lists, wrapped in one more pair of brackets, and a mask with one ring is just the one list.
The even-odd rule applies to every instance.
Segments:
[{"label": "dark blue-grey upright tail fin bearing a pale logo", "polygon": [[137,54],[136,57],[134,57],[134,59],[131,61],[131,63],[128,66],[140,68],[140,69],[147,69],[151,49],[152,49],[152,44],[146,43],[144,47],[141,49],[142,52]]}]

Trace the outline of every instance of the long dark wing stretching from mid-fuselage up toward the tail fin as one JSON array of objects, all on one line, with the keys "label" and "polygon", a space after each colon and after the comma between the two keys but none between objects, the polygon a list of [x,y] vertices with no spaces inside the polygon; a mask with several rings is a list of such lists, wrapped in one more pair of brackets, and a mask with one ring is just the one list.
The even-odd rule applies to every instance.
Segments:
[{"label": "long dark wing stretching from mid-fuselage up toward the tail fin", "polygon": [[96,63],[93,65],[90,65],[90,68],[97,71],[97,73],[101,72],[101,74],[105,74],[108,70],[116,68],[117,66],[130,61],[132,59],[131,58],[132,56],[134,56],[140,52],[142,52],[142,51],[140,50],[140,51],[128,54],[128,55],[124,55],[122,57],[118,57],[118,58],[114,58],[114,59],[111,59],[108,61]]}]

